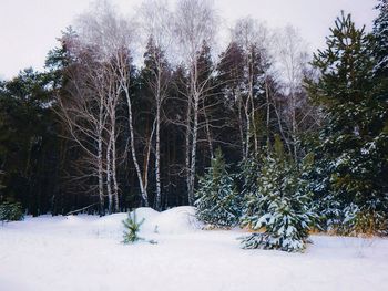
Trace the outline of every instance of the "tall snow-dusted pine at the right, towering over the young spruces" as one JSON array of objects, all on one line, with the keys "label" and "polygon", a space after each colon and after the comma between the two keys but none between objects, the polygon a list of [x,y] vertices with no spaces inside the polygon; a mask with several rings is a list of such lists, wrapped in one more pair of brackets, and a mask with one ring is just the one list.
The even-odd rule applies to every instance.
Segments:
[{"label": "tall snow-dusted pine at the right, towering over the young spruces", "polygon": [[[316,178],[325,187],[319,200],[338,207],[329,211],[328,227],[343,233],[376,233],[387,225],[388,103],[380,77],[386,76],[381,69],[387,4],[380,3],[374,32],[381,44],[374,45],[372,35],[343,13],[327,38],[327,48],[314,55],[320,77],[307,86],[326,116],[316,147],[320,167]],[[377,65],[374,54],[380,60]]]}]

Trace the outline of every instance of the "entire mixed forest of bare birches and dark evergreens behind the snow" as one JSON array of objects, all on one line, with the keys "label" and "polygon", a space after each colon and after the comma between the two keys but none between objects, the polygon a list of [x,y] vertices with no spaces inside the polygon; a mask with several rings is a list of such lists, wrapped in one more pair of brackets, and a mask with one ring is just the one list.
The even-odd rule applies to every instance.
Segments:
[{"label": "entire mixed forest of bare birches and dark evergreens behind the snow", "polygon": [[0,81],[0,208],[188,205],[221,227],[387,235],[387,1],[376,9],[371,32],[338,11],[310,54],[297,29],[249,17],[219,37],[204,0],[144,1],[133,19],[95,2],[43,71]]}]

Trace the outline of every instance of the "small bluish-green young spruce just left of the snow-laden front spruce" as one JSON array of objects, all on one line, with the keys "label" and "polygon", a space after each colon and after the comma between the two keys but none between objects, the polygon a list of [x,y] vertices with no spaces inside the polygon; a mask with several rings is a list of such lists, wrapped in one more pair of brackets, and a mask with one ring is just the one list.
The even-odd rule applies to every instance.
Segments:
[{"label": "small bluish-green young spruce just left of the snow-laden front spruce", "polygon": [[239,196],[219,148],[215,152],[212,166],[200,179],[195,198],[196,216],[201,221],[214,227],[233,227],[238,224]]}]

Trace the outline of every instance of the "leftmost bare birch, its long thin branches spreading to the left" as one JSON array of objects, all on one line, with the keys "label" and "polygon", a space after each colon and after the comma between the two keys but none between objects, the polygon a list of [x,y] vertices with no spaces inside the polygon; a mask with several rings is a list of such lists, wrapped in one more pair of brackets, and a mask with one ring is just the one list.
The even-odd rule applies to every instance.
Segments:
[{"label": "leftmost bare birch, its long thin branches spreading to the left", "polygon": [[88,48],[83,48],[79,38],[64,35],[62,42],[68,49],[73,63],[65,72],[69,82],[68,94],[58,96],[58,114],[65,125],[69,137],[84,153],[85,174],[78,178],[98,177],[100,214],[104,212],[104,169],[103,169],[103,133],[106,122],[104,94],[101,87],[101,71],[92,61]]}]

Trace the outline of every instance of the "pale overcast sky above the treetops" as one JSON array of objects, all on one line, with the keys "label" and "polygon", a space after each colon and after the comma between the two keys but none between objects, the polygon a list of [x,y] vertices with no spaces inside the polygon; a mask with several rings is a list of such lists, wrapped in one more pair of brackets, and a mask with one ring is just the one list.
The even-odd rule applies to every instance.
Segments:
[{"label": "pale overcast sky above the treetops", "polygon": [[[49,50],[90,0],[0,0],[0,79],[32,66],[42,70]],[[131,15],[142,0],[111,0]],[[377,0],[214,0],[224,27],[251,15],[269,28],[296,27],[312,51],[323,48],[340,10],[350,12],[358,27],[371,29]]]}]

